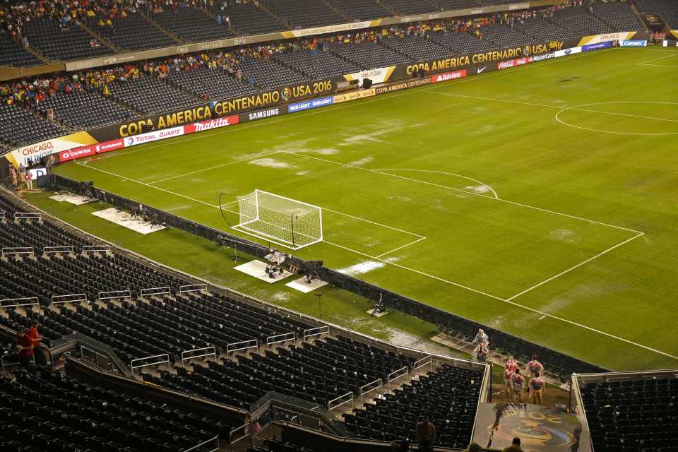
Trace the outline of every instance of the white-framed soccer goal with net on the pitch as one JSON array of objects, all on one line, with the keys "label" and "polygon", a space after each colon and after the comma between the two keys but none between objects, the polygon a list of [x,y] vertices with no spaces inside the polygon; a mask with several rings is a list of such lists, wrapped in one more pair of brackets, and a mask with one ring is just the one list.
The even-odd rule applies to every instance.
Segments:
[{"label": "white-framed soccer goal with net on the pitch", "polygon": [[299,249],[323,239],[323,210],[268,191],[238,196],[239,223],[234,230]]}]

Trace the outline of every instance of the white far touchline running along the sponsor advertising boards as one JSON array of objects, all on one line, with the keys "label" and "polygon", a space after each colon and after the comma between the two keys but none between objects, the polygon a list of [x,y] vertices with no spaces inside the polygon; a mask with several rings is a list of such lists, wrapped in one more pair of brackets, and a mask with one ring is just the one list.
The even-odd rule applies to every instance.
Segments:
[{"label": "white far touchline running along the sponsor advertising boards", "polygon": [[[523,71],[525,69],[531,69],[533,67],[541,67],[541,66],[547,66],[549,64],[559,63],[561,61],[571,61],[571,60],[576,59],[576,58],[586,57],[587,55],[602,54],[604,52],[609,52],[610,50],[615,50],[615,49],[599,50],[598,52],[583,52],[581,54],[576,54],[573,57],[557,58],[557,59],[551,59],[551,60],[547,60],[547,61],[540,61],[536,64],[528,64],[528,65],[525,65],[525,66],[519,66],[517,68],[506,69],[504,71],[491,72],[491,73],[488,73],[485,76],[473,76],[473,77],[470,77],[470,78],[463,78],[461,80],[454,81],[453,84],[466,83],[466,82],[470,82],[470,81],[482,80],[482,79],[488,78],[488,77],[501,76],[504,73],[515,73],[515,72],[518,72],[518,71]],[[434,89],[434,88],[432,88],[432,89]],[[432,89],[429,89],[429,90],[432,90]],[[342,105],[340,107],[333,106],[332,108],[329,108],[329,109],[321,108],[321,109],[318,109],[318,110],[313,111],[313,112],[302,113],[302,114],[292,114],[291,117],[283,117],[283,118],[275,119],[275,120],[272,120],[272,121],[261,121],[261,122],[256,121],[255,124],[251,124],[251,125],[248,125],[248,126],[237,125],[235,127],[235,129],[232,129],[229,126],[229,127],[225,127],[224,129],[215,131],[214,134],[215,135],[221,135],[222,133],[228,133],[228,132],[239,131],[239,130],[244,130],[244,129],[251,129],[252,127],[266,126],[268,124],[274,124],[276,122],[290,121],[291,119],[303,118],[303,117],[311,116],[311,115],[314,115],[314,114],[334,112],[336,110],[340,110],[340,109],[344,109],[344,108],[355,107],[357,105],[369,104],[371,102],[379,102],[381,100],[394,99],[396,97],[415,94],[415,93],[422,93],[422,92],[426,92],[426,91],[429,91],[429,90],[422,90],[422,89],[413,88],[411,90],[405,90],[405,93],[398,93],[398,94],[394,93],[394,94],[391,94],[391,95],[378,96],[376,99],[363,100],[362,102],[348,102],[346,105]],[[177,143],[184,143],[184,141],[196,140],[198,138],[203,138],[203,137],[200,136],[199,133],[196,133],[196,136],[186,136],[186,137],[181,138],[181,139],[174,138],[172,140],[167,141],[166,143],[158,143],[158,144],[155,144],[155,145],[150,145],[148,147],[140,146],[139,149],[129,150],[125,153],[107,153],[107,155],[102,155],[101,157],[97,158],[97,160],[95,162],[98,162],[102,159],[110,158],[110,157],[119,157],[121,155],[133,154],[133,153],[138,153],[138,152],[146,152],[146,151],[151,150],[151,149],[161,148],[162,146],[168,146],[168,145],[173,145],[173,144],[177,144]]]}]

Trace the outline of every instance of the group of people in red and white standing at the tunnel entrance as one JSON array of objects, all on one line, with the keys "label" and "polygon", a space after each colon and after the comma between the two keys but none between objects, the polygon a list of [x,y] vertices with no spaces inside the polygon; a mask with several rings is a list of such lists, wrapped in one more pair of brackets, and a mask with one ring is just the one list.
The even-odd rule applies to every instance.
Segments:
[{"label": "group of people in red and white standing at the tunnel entrance", "polygon": [[517,403],[541,405],[542,396],[546,388],[546,383],[542,379],[543,374],[544,366],[537,361],[535,355],[532,356],[532,360],[525,366],[523,373],[521,373],[521,367],[518,366],[518,362],[510,356],[509,359],[506,359],[506,363],[504,363],[506,396]]}]

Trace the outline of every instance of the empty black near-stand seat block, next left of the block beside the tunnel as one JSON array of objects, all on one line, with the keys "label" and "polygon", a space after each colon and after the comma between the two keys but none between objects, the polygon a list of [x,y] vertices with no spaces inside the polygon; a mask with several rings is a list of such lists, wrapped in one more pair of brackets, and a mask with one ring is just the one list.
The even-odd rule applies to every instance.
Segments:
[{"label": "empty black near-stand seat block, next left of the block beside the tunnel", "polygon": [[162,372],[160,378],[143,374],[146,381],[177,391],[194,393],[227,405],[249,408],[270,391],[326,406],[328,401],[394,370],[412,367],[415,359],[386,352],[349,338],[304,342],[264,356],[239,355],[237,361],[194,364],[193,371]]}]

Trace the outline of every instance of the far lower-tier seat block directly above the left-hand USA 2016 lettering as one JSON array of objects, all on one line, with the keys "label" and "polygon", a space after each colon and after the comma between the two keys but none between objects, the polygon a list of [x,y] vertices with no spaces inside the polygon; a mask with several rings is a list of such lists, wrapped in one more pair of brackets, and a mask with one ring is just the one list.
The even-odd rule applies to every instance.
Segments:
[{"label": "far lower-tier seat block directly above the left-hand USA 2016 lettering", "polygon": [[317,50],[301,50],[275,55],[275,59],[281,64],[304,73],[309,78],[331,78],[342,76],[347,73],[362,71],[360,66],[329,52]]}]

